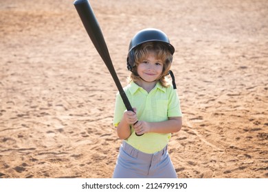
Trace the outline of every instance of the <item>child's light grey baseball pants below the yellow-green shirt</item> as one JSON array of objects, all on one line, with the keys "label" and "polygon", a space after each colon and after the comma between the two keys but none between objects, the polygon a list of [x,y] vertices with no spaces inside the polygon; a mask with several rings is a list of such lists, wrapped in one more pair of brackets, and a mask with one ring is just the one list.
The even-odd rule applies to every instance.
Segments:
[{"label": "child's light grey baseball pants below the yellow-green shirt", "polygon": [[167,146],[157,154],[146,154],[123,141],[113,178],[177,178],[177,173]]}]

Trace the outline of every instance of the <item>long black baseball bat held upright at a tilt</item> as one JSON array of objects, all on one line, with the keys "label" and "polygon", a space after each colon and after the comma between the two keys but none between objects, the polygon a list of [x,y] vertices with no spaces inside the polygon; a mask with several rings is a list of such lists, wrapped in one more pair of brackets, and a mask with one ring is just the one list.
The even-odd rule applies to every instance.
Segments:
[{"label": "long black baseball bat held upright at a tilt", "polygon": [[113,67],[113,62],[111,61],[110,53],[107,48],[107,44],[105,43],[104,36],[102,34],[102,30],[100,29],[100,25],[96,19],[96,16],[93,12],[93,9],[91,8],[89,1],[88,0],[76,0],[74,1],[74,6],[87,31],[87,34],[89,35],[89,38],[91,38],[93,45],[97,49],[98,53],[100,54],[100,57],[106,64],[107,69],[109,70],[109,72],[111,73],[111,76],[113,77],[113,81],[115,82],[115,85],[118,87],[118,91],[120,93],[120,96],[122,97],[124,106],[126,106],[126,110],[131,110],[134,112],[129,102],[129,99],[128,97],[126,97],[126,93],[124,92],[124,89],[122,88],[120,80],[118,79],[118,75],[115,72],[115,69]]}]

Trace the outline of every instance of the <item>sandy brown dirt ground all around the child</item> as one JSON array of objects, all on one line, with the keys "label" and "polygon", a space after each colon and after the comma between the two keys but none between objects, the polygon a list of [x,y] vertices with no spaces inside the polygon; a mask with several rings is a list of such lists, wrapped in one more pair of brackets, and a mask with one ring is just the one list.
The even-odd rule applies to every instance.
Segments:
[{"label": "sandy brown dirt ground all around the child", "polygon": [[[183,110],[179,178],[268,178],[268,1],[91,1],[115,70],[168,34]],[[116,86],[71,0],[0,2],[0,178],[111,178]]]}]

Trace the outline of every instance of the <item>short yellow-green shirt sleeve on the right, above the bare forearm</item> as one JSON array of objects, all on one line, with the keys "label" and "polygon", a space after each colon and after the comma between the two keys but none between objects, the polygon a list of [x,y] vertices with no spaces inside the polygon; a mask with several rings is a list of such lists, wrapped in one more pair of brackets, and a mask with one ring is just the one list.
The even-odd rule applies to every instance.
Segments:
[{"label": "short yellow-green shirt sleeve on the right, above the bare forearm", "polygon": [[182,117],[181,104],[177,89],[169,89],[170,94],[168,98],[168,117]]}]

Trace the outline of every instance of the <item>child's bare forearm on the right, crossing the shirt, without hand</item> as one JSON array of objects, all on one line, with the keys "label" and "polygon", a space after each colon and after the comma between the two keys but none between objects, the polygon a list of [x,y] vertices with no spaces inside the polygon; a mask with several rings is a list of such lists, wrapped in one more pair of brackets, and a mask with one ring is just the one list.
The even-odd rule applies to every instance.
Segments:
[{"label": "child's bare forearm on the right, crossing the shirt, without hand", "polygon": [[150,122],[150,132],[172,133],[179,132],[182,126],[181,117],[171,117],[167,121]]}]

